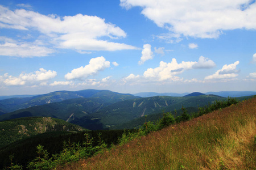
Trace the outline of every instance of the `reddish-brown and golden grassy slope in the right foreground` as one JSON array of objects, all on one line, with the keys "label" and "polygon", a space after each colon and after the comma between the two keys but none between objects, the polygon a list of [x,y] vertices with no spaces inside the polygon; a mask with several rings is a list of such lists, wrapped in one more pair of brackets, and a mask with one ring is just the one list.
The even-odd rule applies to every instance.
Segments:
[{"label": "reddish-brown and golden grassy slope in the right foreground", "polygon": [[66,169],[253,169],[256,97],[172,125]]}]

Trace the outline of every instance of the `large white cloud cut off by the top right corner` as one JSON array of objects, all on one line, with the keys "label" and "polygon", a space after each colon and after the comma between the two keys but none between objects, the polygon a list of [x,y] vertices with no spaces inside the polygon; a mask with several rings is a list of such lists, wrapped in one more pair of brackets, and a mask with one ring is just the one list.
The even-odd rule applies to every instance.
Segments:
[{"label": "large white cloud cut off by the top right corner", "polygon": [[236,1],[121,0],[127,9],[142,7],[142,14],[162,28],[191,37],[217,38],[222,30],[255,29],[256,3]]}]

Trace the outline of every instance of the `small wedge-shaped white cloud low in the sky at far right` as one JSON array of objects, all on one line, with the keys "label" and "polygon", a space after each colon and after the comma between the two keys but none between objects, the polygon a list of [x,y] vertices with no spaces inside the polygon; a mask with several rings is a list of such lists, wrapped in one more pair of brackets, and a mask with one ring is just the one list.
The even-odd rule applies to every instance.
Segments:
[{"label": "small wedge-shaped white cloud low in the sky at far right", "polygon": [[206,76],[205,80],[210,79],[229,79],[229,78],[235,78],[238,76],[238,70],[236,70],[237,65],[239,64],[239,61],[236,61],[230,65],[224,65],[221,70],[216,71],[216,73],[212,75]]}]

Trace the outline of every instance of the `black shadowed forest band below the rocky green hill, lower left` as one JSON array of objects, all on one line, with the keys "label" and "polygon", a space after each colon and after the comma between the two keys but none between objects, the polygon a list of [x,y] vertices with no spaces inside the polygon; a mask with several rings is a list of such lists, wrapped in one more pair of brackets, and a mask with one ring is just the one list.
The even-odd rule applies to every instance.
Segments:
[{"label": "black shadowed forest band below the rocky green hill, lower left", "polygon": [[0,169],[10,167],[10,155],[13,155],[13,163],[19,164],[23,169],[28,169],[27,163],[38,156],[36,148],[39,145],[43,146],[44,150],[47,150],[48,156],[51,158],[53,154],[58,154],[63,151],[64,142],[68,143],[70,146],[72,143],[82,144],[85,141],[85,133],[90,134],[90,137],[93,138],[93,147],[99,145],[99,133],[101,133],[102,140],[110,147],[111,145],[117,145],[118,138],[122,137],[123,132],[124,130],[97,130],[77,133],[72,131],[51,131],[34,135],[0,148]]}]

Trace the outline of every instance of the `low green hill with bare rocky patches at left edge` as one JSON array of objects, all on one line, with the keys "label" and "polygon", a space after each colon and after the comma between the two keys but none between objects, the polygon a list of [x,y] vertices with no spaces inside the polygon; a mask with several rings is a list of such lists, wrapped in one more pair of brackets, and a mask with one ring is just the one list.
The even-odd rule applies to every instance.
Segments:
[{"label": "low green hill with bare rocky patches at left edge", "polygon": [[84,131],[85,129],[51,117],[26,117],[0,122],[0,148],[20,139],[49,131]]}]

